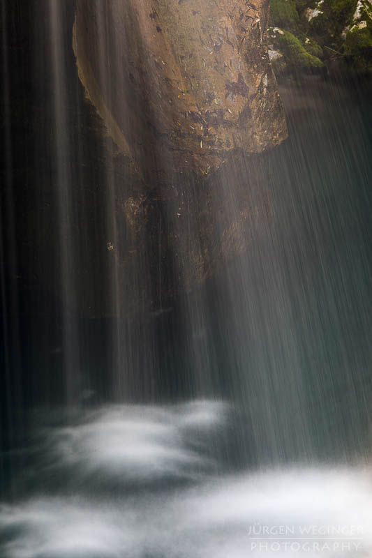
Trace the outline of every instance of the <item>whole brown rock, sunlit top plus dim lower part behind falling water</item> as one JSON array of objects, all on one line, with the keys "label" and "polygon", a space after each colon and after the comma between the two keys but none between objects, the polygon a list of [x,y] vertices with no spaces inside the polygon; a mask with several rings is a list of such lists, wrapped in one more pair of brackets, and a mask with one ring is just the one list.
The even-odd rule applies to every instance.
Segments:
[{"label": "whole brown rock, sunlit top plus dim lower part behind falling water", "polygon": [[101,116],[92,128],[107,131],[107,275],[114,264],[124,300],[162,306],[270,216],[246,163],[287,136],[268,15],[267,0],[77,0],[77,68]]}]

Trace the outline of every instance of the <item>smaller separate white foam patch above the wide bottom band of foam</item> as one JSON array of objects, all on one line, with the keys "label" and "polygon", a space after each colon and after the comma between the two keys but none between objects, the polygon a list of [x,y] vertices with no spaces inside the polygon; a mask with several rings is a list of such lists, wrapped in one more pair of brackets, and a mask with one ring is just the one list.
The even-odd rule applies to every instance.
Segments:
[{"label": "smaller separate white foam patch above the wide bottom band of foam", "polygon": [[203,440],[223,424],[227,410],[221,402],[105,407],[75,425],[47,430],[48,468],[70,469],[80,482],[192,477],[211,465]]}]

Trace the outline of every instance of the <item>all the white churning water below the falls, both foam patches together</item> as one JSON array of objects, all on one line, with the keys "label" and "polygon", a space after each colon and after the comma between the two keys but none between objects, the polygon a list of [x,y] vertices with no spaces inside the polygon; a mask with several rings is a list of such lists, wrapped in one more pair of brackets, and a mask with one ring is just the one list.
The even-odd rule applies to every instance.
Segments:
[{"label": "all the white churning water below the falls, both foam patches together", "polygon": [[40,488],[1,508],[1,556],[371,556],[371,472],[223,471],[216,446],[230,411],[205,401],[105,407],[40,431]]}]

